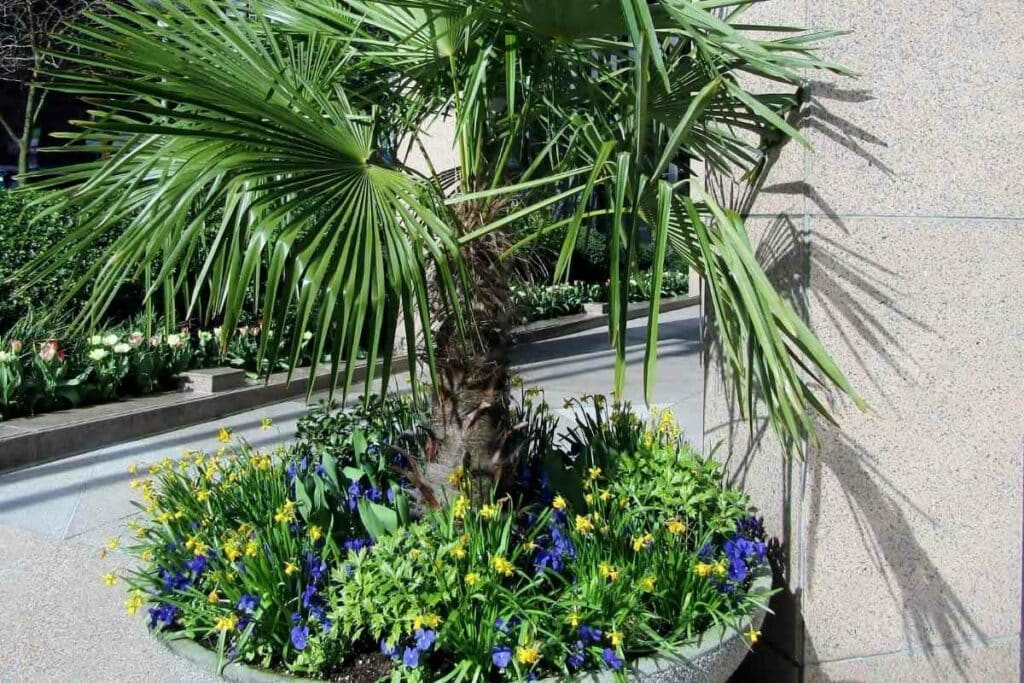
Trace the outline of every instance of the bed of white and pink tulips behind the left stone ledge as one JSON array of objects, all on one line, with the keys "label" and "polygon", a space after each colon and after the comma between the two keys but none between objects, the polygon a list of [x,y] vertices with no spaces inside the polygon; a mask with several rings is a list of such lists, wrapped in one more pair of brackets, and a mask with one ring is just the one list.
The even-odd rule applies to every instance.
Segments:
[{"label": "bed of white and pink tulips behind the left stone ledge", "polygon": [[[112,328],[67,341],[28,331],[0,338],[0,421],[172,390],[179,374],[200,368],[269,373],[267,361],[257,362],[260,328],[237,332],[223,353],[219,329],[144,335]],[[304,357],[300,365],[308,364]]]}]

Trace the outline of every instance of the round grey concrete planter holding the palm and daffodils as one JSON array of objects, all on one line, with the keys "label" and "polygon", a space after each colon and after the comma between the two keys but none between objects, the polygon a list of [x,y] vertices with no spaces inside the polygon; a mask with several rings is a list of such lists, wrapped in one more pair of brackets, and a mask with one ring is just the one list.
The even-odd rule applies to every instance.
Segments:
[{"label": "round grey concrete planter holding the palm and daffodils", "polygon": [[[751,593],[767,594],[771,591],[771,568],[765,564],[757,570]],[[757,631],[765,618],[765,610],[756,609],[740,627]],[[206,671],[218,673],[220,658],[217,653],[185,638],[163,638],[161,642],[175,654],[199,665]],[[750,648],[743,634],[731,627],[706,631],[697,642],[673,652],[663,652],[627,663],[629,680],[637,683],[724,683],[739,668]],[[219,674],[237,683],[317,683],[315,679],[298,678],[287,674],[253,669],[232,663]],[[554,683],[558,679],[544,679]],[[572,679],[579,683],[610,683],[610,672],[594,672]],[[323,683],[323,681],[318,682]]]}]

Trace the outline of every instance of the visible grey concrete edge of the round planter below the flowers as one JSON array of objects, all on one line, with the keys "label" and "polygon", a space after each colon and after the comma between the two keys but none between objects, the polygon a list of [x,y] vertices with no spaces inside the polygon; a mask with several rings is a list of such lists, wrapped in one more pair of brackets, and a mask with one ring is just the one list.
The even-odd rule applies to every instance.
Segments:
[{"label": "visible grey concrete edge of the round planter below the flowers", "polygon": [[[754,581],[751,584],[749,594],[767,596],[771,592],[772,571],[771,566],[766,561],[754,570]],[[742,621],[742,628],[757,631],[761,628],[766,614],[766,609],[755,607],[752,613]],[[627,661],[631,680],[643,681],[648,676],[667,669],[678,669],[689,666],[689,663],[709,655],[719,648],[725,647],[742,638],[742,634],[732,626],[712,627],[701,633],[696,642],[684,645],[668,652],[659,652],[650,656],[640,657],[632,661]],[[218,671],[220,658],[216,652],[200,645],[195,640],[184,637],[158,638],[158,640],[174,654],[188,659],[195,665],[213,674],[219,674],[222,678],[234,683],[323,683],[321,679],[303,678],[291,676],[289,674],[275,673],[263,669],[247,667],[244,664],[232,661],[224,667],[223,671]],[[545,678],[541,683],[553,683],[562,679]],[[580,676],[574,676],[570,681],[587,683],[605,683],[612,681],[610,672],[598,671],[589,672]]]}]

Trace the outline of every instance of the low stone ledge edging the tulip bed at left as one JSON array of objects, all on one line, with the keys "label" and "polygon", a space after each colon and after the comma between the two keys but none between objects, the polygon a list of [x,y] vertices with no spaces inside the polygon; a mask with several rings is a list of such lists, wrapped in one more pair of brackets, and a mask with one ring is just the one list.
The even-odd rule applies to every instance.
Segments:
[{"label": "low stone ledge edging the tulip bed at left", "polygon": [[[393,360],[392,372],[408,370],[408,357]],[[309,373],[309,368],[301,368],[292,374],[291,381],[288,373],[274,373],[266,382],[247,380],[243,387],[214,393],[170,391],[2,422],[0,471],[58,460],[301,396],[308,389]],[[360,362],[352,381],[361,382],[366,377],[367,366]],[[330,372],[316,376],[314,390],[323,391],[330,385]]]}]

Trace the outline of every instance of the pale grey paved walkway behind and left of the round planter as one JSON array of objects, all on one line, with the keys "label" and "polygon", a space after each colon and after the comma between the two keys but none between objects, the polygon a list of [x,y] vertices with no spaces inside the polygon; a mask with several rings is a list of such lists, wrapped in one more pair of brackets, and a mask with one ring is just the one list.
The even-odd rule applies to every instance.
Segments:
[{"label": "pale grey paved walkway behind and left of the round planter", "polygon": [[[695,308],[662,316],[652,404],[672,407],[684,433],[701,433],[699,317]],[[629,328],[627,398],[643,404],[645,321]],[[613,356],[607,333],[596,330],[517,349],[528,385],[545,389],[560,410],[566,396],[606,393]],[[175,458],[185,449],[213,451],[216,432],[230,428],[253,444],[291,439],[308,410],[298,400],[101,449],[0,476],[0,681],[75,683],[213,681],[167,653],[142,618],[124,614],[123,587],[101,577],[130,562],[108,538],[123,533],[130,503],[128,465]],[[264,417],[273,420],[260,429]]]}]

